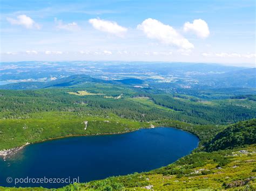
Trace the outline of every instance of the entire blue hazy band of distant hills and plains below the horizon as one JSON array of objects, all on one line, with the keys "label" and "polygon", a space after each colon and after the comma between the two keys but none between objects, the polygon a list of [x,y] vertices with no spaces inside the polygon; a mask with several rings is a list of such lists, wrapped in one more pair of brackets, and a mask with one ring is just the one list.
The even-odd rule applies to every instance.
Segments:
[{"label": "entire blue hazy band of distant hills and plains below the horizon", "polygon": [[36,66],[34,62],[1,65],[0,82],[17,82],[2,85],[0,89],[72,87],[96,82],[142,87],[149,84],[147,87],[169,90],[256,88],[256,68],[208,63],[73,61],[36,62]]}]

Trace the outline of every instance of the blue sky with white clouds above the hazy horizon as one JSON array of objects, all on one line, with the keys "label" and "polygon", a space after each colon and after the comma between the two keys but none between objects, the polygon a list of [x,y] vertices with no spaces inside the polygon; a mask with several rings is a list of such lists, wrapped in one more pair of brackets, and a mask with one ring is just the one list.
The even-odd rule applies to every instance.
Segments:
[{"label": "blue sky with white clouds above the hazy horizon", "polygon": [[1,62],[255,66],[255,1],[0,0]]}]

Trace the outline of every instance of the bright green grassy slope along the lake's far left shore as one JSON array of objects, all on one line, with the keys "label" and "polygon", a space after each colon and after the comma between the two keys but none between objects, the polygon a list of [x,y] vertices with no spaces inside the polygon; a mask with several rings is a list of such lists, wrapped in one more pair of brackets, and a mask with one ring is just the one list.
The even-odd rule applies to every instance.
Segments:
[{"label": "bright green grassy slope along the lake's far left shore", "polygon": [[[86,130],[84,121],[88,121]],[[0,150],[56,137],[119,133],[149,126],[149,123],[131,121],[114,115],[102,118],[74,112],[40,112],[32,114],[27,119],[0,120]]]}]

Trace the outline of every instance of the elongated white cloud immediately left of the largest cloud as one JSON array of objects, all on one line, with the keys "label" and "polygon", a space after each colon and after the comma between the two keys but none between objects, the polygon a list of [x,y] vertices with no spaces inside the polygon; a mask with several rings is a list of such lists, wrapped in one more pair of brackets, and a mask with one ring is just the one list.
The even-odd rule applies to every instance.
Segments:
[{"label": "elongated white cloud immediately left of the largest cloud", "polygon": [[89,23],[92,24],[92,26],[99,31],[111,33],[118,37],[123,37],[124,33],[127,31],[125,27],[120,26],[116,22],[110,20],[102,20],[95,18],[90,19]]}]

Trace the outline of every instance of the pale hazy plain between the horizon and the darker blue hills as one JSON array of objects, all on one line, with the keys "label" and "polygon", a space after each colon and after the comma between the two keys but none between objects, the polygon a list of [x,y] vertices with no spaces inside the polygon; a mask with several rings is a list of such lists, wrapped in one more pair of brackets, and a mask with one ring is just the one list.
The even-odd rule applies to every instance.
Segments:
[{"label": "pale hazy plain between the horizon and the darker blue hills", "polygon": [[204,74],[227,73],[245,67],[223,66],[209,63],[181,62],[113,62],[113,61],[69,61],[69,62],[2,62],[0,63],[1,81],[44,81],[51,77],[86,74],[97,79],[129,79],[155,75],[197,76]]}]

